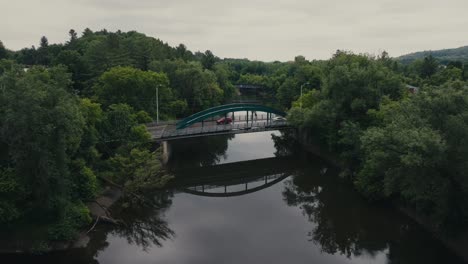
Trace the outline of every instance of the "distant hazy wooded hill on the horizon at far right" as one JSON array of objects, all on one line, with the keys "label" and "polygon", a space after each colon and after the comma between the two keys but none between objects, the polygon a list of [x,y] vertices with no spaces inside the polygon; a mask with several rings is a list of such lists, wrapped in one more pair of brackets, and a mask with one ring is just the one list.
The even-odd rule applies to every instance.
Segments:
[{"label": "distant hazy wooded hill on the horizon at far right", "polygon": [[429,54],[432,54],[432,56],[434,56],[437,60],[439,60],[442,63],[446,63],[449,61],[468,62],[468,46],[456,49],[420,51],[400,56],[397,59],[400,60],[402,63],[410,63],[413,60],[422,59]]}]

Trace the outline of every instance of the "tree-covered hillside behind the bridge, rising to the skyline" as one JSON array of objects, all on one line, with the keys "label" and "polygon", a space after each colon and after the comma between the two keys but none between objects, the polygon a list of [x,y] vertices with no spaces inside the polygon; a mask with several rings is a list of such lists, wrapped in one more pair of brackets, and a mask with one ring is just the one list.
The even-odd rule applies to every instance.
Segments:
[{"label": "tree-covered hillside behind the bridge, rising to the skyline", "polygon": [[[183,44],[170,47],[135,31],[86,29],[78,36],[70,30],[69,40],[64,44],[50,44],[44,36],[38,47],[15,52],[0,44],[0,59],[12,60],[27,68],[66,66],[73,91],[79,96],[98,101],[114,94],[120,99],[113,100],[125,101],[127,96],[137,94],[138,102],[133,98],[131,106],[144,107],[152,117],[156,114],[155,90],[158,87],[162,119],[184,117],[207,107],[234,102],[238,100],[236,84],[262,86],[262,100],[286,109],[298,98],[300,84],[309,82],[319,87],[322,74],[302,56],[287,63],[220,59],[209,50],[191,52]],[[145,75],[148,72],[160,75],[153,80]],[[143,76],[140,78],[140,75]],[[112,85],[106,86],[106,83]],[[116,88],[99,91],[104,86],[104,89]]]}]

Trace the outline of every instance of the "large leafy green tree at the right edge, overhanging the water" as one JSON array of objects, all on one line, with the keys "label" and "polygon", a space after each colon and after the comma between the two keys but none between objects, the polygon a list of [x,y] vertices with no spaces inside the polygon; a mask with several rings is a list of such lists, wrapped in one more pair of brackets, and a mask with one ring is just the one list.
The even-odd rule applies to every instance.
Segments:
[{"label": "large leafy green tree at the right edge, overhanging the water", "polygon": [[445,231],[466,225],[467,106],[467,90],[455,83],[382,105],[361,138],[357,187],[374,199],[399,199]]}]

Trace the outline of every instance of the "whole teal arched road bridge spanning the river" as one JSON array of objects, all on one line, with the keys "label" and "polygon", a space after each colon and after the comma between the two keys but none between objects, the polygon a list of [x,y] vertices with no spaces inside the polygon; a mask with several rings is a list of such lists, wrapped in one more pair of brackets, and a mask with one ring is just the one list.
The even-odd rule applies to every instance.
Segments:
[{"label": "whole teal arched road bridge spanning the river", "polygon": [[[258,114],[258,113],[263,114]],[[236,113],[245,113],[239,115]],[[216,118],[230,117],[230,124],[216,124]],[[151,123],[147,129],[154,141],[169,141],[181,138],[254,133],[290,128],[286,120],[274,120],[285,117],[286,113],[268,106],[249,103],[220,105],[195,113],[176,122]]]}]

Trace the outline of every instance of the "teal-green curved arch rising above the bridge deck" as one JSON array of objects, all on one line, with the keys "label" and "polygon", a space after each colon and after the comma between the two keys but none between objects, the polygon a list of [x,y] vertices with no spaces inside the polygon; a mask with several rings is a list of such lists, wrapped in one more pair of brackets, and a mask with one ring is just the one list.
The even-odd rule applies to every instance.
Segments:
[{"label": "teal-green curved arch rising above the bridge deck", "polygon": [[272,113],[272,114],[279,115],[279,116],[286,116],[285,112],[268,107],[268,106],[264,106],[264,105],[227,104],[227,105],[220,105],[220,106],[208,108],[206,110],[193,114],[189,117],[186,117],[177,123],[176,128],[177,129],[186,128],[188,126],[201,122],[210,117],[222,116],[227,113],[243,112],[243,111],[258,111],[258,112]]}]

